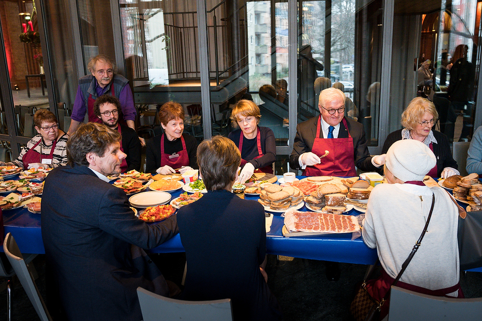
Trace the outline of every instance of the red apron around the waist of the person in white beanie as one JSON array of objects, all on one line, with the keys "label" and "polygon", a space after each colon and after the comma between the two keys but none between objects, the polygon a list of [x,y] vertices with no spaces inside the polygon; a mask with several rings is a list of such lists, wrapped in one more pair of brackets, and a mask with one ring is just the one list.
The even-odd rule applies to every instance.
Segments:
[{"label": "red apron around the waist of the person in white beanie", "polygon": [[[394,282],[394,278],[389,276],[384,269],[382,269],[382,276],[378,279],[368,280],[366,281],[366,290],[368,294],[372,296],[375,300],[379,301],[388,293],[392,283]],[[395,286],[401,287],[402,289],[407,289],[410,291],[428,294],[433,296],[445,296],[448,298],[452,298],[452,296],[447,296],[447,294],[458,291],[457,298],[464,298],[464,293],[462,292],[462,288],[460,287],[460,283],[452,285],[450,287],[446,287],[443,289],[438,290],[429,290],[424,287],[420,287],[417,285],[412,285],[409,283],[398,281],[396,282]],[[387,301],[382,305],[382,309],[380,312],[380,320],[385,318],[389,312],[390,308],[390,297]]]}]

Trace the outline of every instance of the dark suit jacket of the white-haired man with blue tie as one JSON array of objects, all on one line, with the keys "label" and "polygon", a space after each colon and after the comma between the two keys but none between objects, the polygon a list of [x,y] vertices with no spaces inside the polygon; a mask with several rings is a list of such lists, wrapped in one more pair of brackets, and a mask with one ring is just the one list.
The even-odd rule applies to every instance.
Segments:
[{"label": "dark suit jacket of the white-haired man with blue tie", "polygon": [[[355,166],[362,171],[376,170],[377,167],[372,164],[372,157],[368,152],[368,145],[363,125],[359,122],[349,119],[348,117],[345,117],[345,119],[347,120],[348,130],[350,131],[351,138],[353,139],[353,159],[355,161]],[[300,155],[306,152],[311,152],[314,138],[316,136],[317,122],[318,116],[299,123],[296,126],[295,143],[293,144],[293,151],[290,155],[291,168],[301,169],[298,161]],[[320,137],[323,138],[322,130],[320,130]],[[348,138],[348,131],[343,122],[340,122],[338,138]]]}]

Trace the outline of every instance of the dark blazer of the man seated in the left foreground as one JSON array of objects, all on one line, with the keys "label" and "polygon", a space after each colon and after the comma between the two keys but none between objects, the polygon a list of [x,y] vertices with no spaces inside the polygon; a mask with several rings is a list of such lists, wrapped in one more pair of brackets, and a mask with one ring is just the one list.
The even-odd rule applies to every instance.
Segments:
[{"label": "dark blazer of the man seated in the left foreground", "polygon": [[142,320],[136,288],[169,291],[139,247],[153,248],[177,232],[175,216],[152,225],[137,219],[124,191],[86,166],[54,168],[45,180],[47,287],[69,321]]}]

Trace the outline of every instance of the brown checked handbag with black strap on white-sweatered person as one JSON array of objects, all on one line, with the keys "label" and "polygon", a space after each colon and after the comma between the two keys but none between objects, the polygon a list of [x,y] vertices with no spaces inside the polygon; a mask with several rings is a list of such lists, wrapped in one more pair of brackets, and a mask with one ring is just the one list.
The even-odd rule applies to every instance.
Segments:
[{"label": "brown checked handbag with black strap on white-sweatered person", "polygon": [[[427,232],[427,228],[430,223],[430,218],[432,217],[432,212],[434,211],[434,205],[435,205],[435,194],[432,195],[432,206],[430,207],[430,213],[429,213],[429,216],[427,217],[427,222],[425,223],[424,230],[422,231],[422,234],[420,235],[420,238],[418,239],[418,241],[413,246],[412,251],[410,252],[410,255],[408,255],[405,262],[403,262],[402,268],[400,272],[398,272],[398,275],[396,276],[394,282],[392,283],[392,286],[395,285],[396,282],[398,282],[398,280],[400,280],[400,277],[402,276],[403,272],[405,272],[408,264],[410,263],[413,256],[415,255],[418,248],[420,247],[420,243],[422,242],[422,239],[425,236],[425,232]],[[375,265],[370,267],[369,271],[367,272],[364,278],[363,283],[361,283],[360,288],[357,290],[355,294],[355,298],[353,299],[353,301],[351,301],[350,313],[351,313],[351,316],[356,321],[380,320],[380,312],[382,310],[382,305],[384,305],[384,303],[387,301],[388,297],[390,296],[390,291],[389,291],[387,294],[385,294],[385,296],[382,298],[381,301],[377,301],[374,298],[372,298],[368,293],[368,291],[366,290],[366,281],[369,279],[369,276],[373,271],[374,267]]]}]

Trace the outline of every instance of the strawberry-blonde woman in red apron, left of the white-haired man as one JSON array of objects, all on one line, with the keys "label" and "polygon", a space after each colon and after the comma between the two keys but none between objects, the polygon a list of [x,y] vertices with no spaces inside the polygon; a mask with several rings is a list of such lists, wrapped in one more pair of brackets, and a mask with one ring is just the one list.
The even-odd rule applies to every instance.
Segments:
[{"label": "strawberry-blonde woman in red apron, left of the white-haired man", "polygon": [[273,173],[276,160],[276,142],[273,131],[258,126],[260,108],[251,100],[242,99],[234,106],[231,120],[239,129],[227,136],[241,152],[241,173],[239,182],[246,182],[254,172]]}]

